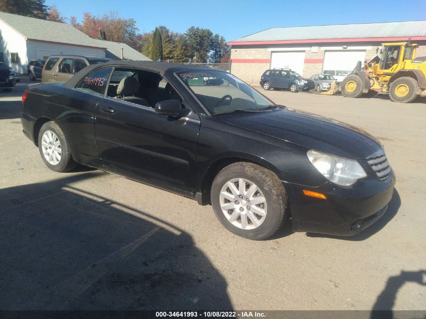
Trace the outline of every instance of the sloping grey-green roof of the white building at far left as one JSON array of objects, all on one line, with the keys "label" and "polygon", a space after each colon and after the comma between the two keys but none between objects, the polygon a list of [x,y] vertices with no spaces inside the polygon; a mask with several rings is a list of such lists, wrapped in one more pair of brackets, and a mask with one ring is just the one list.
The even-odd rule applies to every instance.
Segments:
[{"label": "sloping grey-green roof of the white building at far left", "polygon": [[105,48],[105,46],[94,42],[91,37],[67,23],[23,17],[5,12],[0,12],[0,19],[28,40]]}]

